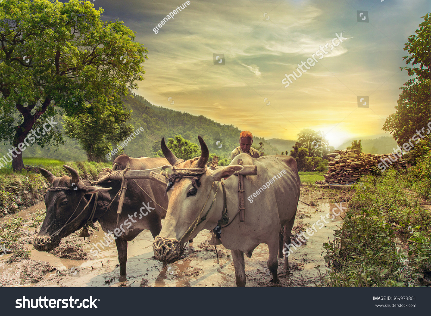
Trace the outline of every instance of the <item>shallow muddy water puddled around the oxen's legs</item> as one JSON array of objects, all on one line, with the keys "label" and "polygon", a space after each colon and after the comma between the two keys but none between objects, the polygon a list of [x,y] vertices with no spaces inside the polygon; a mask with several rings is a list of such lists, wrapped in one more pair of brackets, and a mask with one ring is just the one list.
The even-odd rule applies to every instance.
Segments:
[{"label": "shallow muddy water puddled around the oxen's legs", "polygon": [[[44,203],[39,203],[33,207],[20,211],[0,219],[0,223],[16,217],[28,218],[35,210],[44,209]],[[322,244],[332,241],[334,229],[343,222],[344,214],[334,216],[334,219],[325,217],[332,214],[332,209],[337,208],[332,203],[321,203],[318,207],[310,207],[302,203],[298,206],[297,218],[295,220],[294,235],[300,230],[305,231],[312,227],[322,217],[328,223],[310,236],[306,245],[298,247],[289,256],[290,274],[282,270],[283,259],[278,259],[281,285],[283,286],[314,286],[317,282],[317,270],[314,268],[320,265],[325,267],[325,260],[322,255]],[[338,211],[336,211],[336,214]],[[162,223],[163,224],[163,223]],[[317,227],[317,224],[315,225]],[[33,228],[34,229],[34,228]],[[79,232],[75,232],[71,239],[78,239]],[[94,244],[100,242],[105,237],[100,229],[94,235],[87,238],[83,250],[90,259],[70,260],[60,259],[53,254],[36,251],[32,245],[28,244],[31,250],[32,260],[42,260],[50,263],[56,271],[47,273],[44,279],[36,284],[28,286],[66,286],[66,287],[109,287],[109,286],[131,286],[131,287],[234,287],[235,274],[230,251],[218,246],[219,264],[215,256],[214,246],[203,244],[210,238],[208,231],[200,232],[194,242],[187,247],[187,257],[178,260],[171,265],[163,265],[153,259],[153,237],[148,230],[141,232],[132,242],[128,242],[127,277],[119,279],[119,264],[115,243],[112,242],[104,249],[100,249],[97,257],[91,257],[90,251]],[[203,245],[201,245],[203,244]],[[99,247],[100,248],[100,247]],[[10,255],[4,255],[0,262]],[[247,275],[247,287],[259,287],[269,284],[272,276],[269,275],[266,261],[268,260],[267,245],[259,245],[253,252],[251,258],[245,257],[245,269]],[[321,270],[322,270],[321,268]],[[0,273],[4,273],[0,269]],[[65,273],[66,272],[66,273]]]}]

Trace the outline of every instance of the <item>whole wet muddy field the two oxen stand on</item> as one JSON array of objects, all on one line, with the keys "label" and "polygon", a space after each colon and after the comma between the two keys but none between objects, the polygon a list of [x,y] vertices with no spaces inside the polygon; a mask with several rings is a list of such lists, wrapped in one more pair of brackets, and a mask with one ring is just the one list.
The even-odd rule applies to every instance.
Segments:
[{"label": "whole wet muddy field the two oxen stand on", "polygon": [[[294,235],[311,227],[321,216],[325,217],[337,206],[332,202],[342,202],[347,207],[349,193],[329,192],[325,189],[301,187],[295,220]],[[4,254],[0,257],[0,286],[2,287],[234,287],[235,274],[230,251],[217,246],[219,264],[214,246],[208,244],[209,231],[200,232],[189,244],[181,260],[163,265],[153,259],[153,238],[148,230],[141,232],[134,241],[128,243],[127,277],[119,279],[119,264],[115,243],[102,249],[97,257],[90,253],[93,243],[103,239],[103,231],[90,229],[91,237],[79,238],[79,232],[62,239],[53,253],[36,251],[31,240],[44,218],[44,202],[16,214],[1,218],[0,223],[22,218],[19,244],[31,251],[29,259]],[[332,212],[331,212],[332,214]],[[278,259],[280,284],[272,279],[266,266],[268,247],[259,245],[251,258],[245,257],[247,287],[313,287],[318,282],[320,265],[325,270],[322,244],[333,239],[334,229],[342,222],[343,214],[331,219],[289,257],[290,273],[282,270],[283,259]],[[162,222],[163,224],[163,222]],[[98,223],[97,223],[98,225]],[[296,237],[296,236],[295,236]],[[7,247],[6,247],[7,248]],[[6,251],[7,252],[7,251]],[[13,256],[13,257],[12,257]]]}]

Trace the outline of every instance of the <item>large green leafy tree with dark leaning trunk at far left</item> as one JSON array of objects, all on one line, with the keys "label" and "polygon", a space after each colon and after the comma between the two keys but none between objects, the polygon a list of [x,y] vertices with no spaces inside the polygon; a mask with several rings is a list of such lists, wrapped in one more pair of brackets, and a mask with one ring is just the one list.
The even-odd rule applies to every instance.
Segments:
[{"label": "large green leafy tree with dark leaning trunk at far left", "polygon": [[[101,21],[102,13],[83,0],[0,3],[1,140],[16,148],[56,114],[90,114],[92,104],[105,112],[101,105],[121,106],[137,88],[147,49],[122,22]],[[62,134],[50,130],[36,143],[58,145]],[[21,170],[16,153],[12,167]]]}]

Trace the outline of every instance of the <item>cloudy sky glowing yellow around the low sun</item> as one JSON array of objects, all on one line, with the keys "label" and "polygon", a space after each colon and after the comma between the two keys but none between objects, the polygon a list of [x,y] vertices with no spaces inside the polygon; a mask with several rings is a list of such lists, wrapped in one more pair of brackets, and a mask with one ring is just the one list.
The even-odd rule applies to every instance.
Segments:
[{"label": "cloudy sky glowing yellow around the low sun", "polygon": [[181,1],[93,1],[148,49],[136,93],[265,139],[322,131],[332,146],[390,136],[403,48],[430,11],[429,0],[189,0],[174,14]]}]

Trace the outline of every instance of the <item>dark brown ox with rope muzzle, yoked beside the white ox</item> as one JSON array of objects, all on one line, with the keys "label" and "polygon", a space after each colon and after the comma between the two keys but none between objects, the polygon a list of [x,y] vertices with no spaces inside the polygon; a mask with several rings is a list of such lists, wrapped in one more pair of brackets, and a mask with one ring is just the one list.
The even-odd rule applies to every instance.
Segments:
[{"label": "dark brown ox with rope muzzle, yoked beside the white ox", "polygon": [[[131,170],[144,170],[169,163],[165,158],[130,158],[127,155],[120,155],[113,164],[117,164],[116,170],[124,169],[126,166],[129,166]],[[112,199],[119,192],[121,181],[107,180],[98,183],[97,186],[91,186],[90,181],[79,180],[78,172],[75,169],[66,165],[63,167],[69,170],[71,177],[54,177],[48,170],[39,168],[41,174],[52,184],[51,189],[58,189],[58,191],[48,191],[45,195],[47,214],[40,232],[34,238],[34,248],[38,251],[51,251],[59,246],[63,237],[81,229],[91,217],[95,197],[93,196],[87,208],[85,206],[92,194],[98,192],[97,207],[92,221],[99,221],[104,232],[114,232],[113,238],[118,251],[120,276],[125,276],[127,242],[133,240],[144,229],[149,229],[153,237],[158,235],[162,229],[161,219],[165,217],[164,209],[168,206],[168,196],[165,194],[166,186],[151,180],[135,180],[147,192],[147,195],[134,180],[128,180],[123,209],[118,220],[119,227],[117,227],[119,197],[117,196],[114,201]],[[73,187],[72,183],[75,183]],[[76,187],[78,189],[74,190]],[[143,203],[155,210],[150,209],[149,212],[148,209],[143,208]],[[108,209],[109,204],[111,205]],[[140,211],[141,208],[143,208],[143,212]],[[142,214],[146,216],[142,216]],[[106,234],[105,236],[103,248],[109,245],[109,238]],[[96,245],[100,250],[103,249],[100,242]],[[91,253],[96,253],[93,252],[93,248]]]}]

